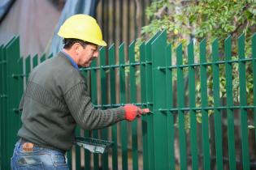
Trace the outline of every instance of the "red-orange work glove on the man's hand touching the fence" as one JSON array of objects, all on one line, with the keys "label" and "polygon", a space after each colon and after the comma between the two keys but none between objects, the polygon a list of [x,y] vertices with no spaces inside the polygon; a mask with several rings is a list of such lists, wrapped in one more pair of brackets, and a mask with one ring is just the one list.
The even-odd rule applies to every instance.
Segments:
[{"label": "red-orange work glove on the man's hand touching the fence", "polygon": [[141,109],[133,104],[124,105],[124,111],[125,111],[124,117],[127,121],[133,121],[136,117],[140,117],[141,114],[150,112],[148,108]]}]

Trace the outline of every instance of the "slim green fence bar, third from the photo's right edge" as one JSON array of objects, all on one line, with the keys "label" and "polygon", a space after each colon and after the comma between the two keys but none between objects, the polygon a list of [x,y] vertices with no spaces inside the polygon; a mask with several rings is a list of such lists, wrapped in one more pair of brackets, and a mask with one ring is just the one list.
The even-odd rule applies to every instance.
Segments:
[{"label": "slim green fence bar, third from the photo's right edge", "polygon": [[235,137],[234,137],[234,115],[232,108],[233,94],[232,94],[232,63],[228,62],[232,59],[231,51],[231,36],[224,41],[224,52],[225,52],[225,73],[226,73],[226,91],[227,91],[227,116],[228,116],[228,158],[229,158],[229,169],[236,170],[236,148],[235,148]]}]

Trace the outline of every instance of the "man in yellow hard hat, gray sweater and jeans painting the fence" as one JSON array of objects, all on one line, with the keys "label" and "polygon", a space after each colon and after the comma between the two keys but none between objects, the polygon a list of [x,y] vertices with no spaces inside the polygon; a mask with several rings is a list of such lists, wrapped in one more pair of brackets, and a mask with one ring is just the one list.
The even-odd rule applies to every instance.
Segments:
[{"label": "man in yellow hard hat, gray sweater and jeans painting the fence", "polygon": [[68,169],[66,151],[74,130],[101,129],[118,121],[133,121],[143,111],[135,105],[94,109],[79,67],[90,66],[98,46],[106,46],[102,31],[89,15],[73,15],[59,29],[64,48],[29,75],[20,102],[23,110],[20,140],[15,144],[12,169]]}]

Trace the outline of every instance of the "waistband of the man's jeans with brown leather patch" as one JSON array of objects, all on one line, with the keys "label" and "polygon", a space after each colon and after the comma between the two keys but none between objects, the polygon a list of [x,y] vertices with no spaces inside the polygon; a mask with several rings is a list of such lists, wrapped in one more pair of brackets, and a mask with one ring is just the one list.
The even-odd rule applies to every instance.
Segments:
[{"label": "waistband of the man's jeans with brown leather patch", "polygon": [[46,146],[46,145],[40,145],[40,144],[37,144],[37,143],[33,143],[33,142],[28,141],[28,140],[25,139],[25,138],[20,138],[20,144],[22,145],[22,148],[23,148],[24,151],[33,151],[33,147],[37,146],[37,147],[42,147],[42,148],[45,148],[45,149],[50,149],[50,150],[54,150],[54,151],[59,151],[59,152],[61,152],[63,155],[66,154],[66,151],[57,149],[57,148],[55,148],[55,147],[50,147],[50,146]]}]

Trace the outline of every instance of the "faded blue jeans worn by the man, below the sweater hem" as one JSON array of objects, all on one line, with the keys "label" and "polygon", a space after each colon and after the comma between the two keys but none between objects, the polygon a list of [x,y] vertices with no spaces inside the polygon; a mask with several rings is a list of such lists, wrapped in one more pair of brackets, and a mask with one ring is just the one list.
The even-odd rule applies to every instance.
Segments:
[{"label": "faded blue jeans worn by the man, below the sweater hem", "polygon": [[36,145],[33,151],[23,151],[22,144],[21,140],[15,144],[12,170],[68,170],[67,156],[63,152]]}]

